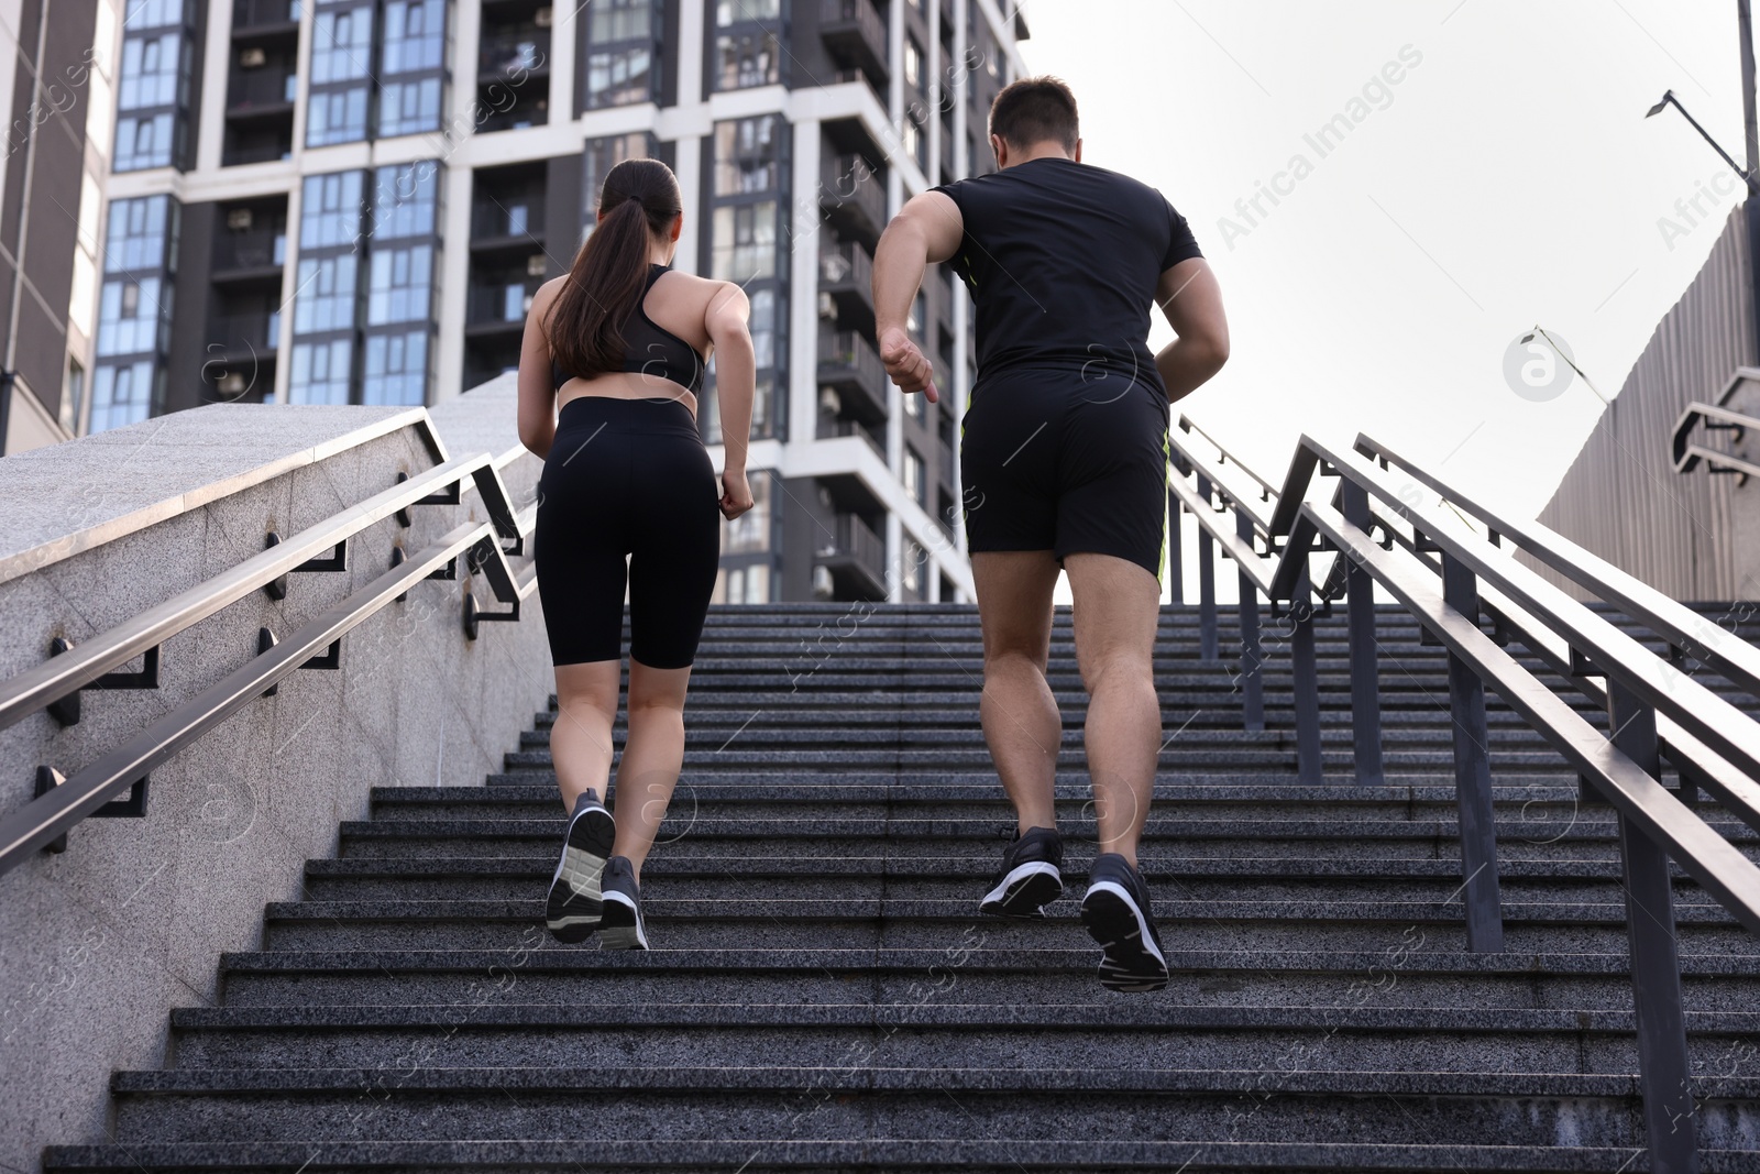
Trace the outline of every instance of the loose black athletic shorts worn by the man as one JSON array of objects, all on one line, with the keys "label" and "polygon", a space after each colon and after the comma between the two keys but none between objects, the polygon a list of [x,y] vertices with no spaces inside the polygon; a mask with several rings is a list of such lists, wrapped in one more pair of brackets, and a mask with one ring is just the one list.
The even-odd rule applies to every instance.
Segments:
[{"label": "loose black athletic shorts worn by the man", "polygon": [[972,391],[959,442],[973,553],[1167,561],[1167,398],[1079,371],[1008,368]]}]

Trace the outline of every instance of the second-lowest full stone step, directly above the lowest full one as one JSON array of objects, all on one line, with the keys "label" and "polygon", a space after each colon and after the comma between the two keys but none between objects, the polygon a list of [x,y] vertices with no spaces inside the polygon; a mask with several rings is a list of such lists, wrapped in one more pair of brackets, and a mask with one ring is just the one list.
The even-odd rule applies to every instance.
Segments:
[{"label": "second-lowest full stone step, directly above the lowest full one", "polygon": [[[1149,1009],[1142,1014],[1133,1009]],[[634,1012],[634,1014],[627,1014]],[[1760,1028],[1760,1014],[1688,1017],[1698,1068]],[[1156,1003],[1038,1007],[998,1014],[972,1003],[776,1007],[693,1003],[660,1009],[299,1007],[172,1012],[174,1067],[283,1068],[422,1063],[436,1067],[737,1067],[753,1056],[836,1068],[852,1056],[891,1068],[1058,1067],[1070,1056],[1111,1068],[1183,1065],[1278,1070],[1292,1060],[1339,1072],[1385,1072],[1413,1051],[1436,1072],[1637,1070],[1635,1016],[1591,1010],[1199,1007]]]}]

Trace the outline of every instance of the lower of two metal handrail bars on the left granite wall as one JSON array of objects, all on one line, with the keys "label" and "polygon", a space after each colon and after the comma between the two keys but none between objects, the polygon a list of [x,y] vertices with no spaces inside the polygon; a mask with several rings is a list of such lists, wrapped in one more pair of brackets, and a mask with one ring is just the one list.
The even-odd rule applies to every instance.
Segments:
[{"label": "lower of two metal handrail bars on the left granite wall", "polygon": [[[324,614],[292,632],[285,641],[234,669],[215,685],[183,702],[144,730],[77,771],[67,781],[18,811],[0,817],[0,875],[25,862],[185,746],[245,708],[250,701],[294,672],[320,649],[378,613],[412,586],[465,553],[480,553],[484,567],[502,560],[489,523],[465,523],[426,551],[407,558]],[[502,569],[505,572],[505,561]],[[489,576],[491,586],[498,576]],[[510,581],[510,576],[505,576]],[[502,602],[514,602],[496,590]]]}]

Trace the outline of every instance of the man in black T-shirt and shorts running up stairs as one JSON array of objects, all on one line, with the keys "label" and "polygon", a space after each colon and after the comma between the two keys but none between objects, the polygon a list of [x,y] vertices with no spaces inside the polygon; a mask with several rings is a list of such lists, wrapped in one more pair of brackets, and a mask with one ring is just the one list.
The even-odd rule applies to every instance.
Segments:
[{"label": "man in black T-shirt and shorts running up stairs", "polygon": [[[1082,924],[1116,991],[1167,986],[1137,873],[1162,745],[1153,651],[1167,542],[1169,403],[1221,370],[1221,292],[1184,218],[1155,188],[1081,162],[1075,97],[1054,77],[996,95],[996,174],[912,199],[875,253],[880,357],[901,391],[938,391],[905,329],[928,262],[977,303],[977,384],[959,468],[984,627],[979,713],[1019,817],[986,914],[1042,917],[1063,894],[1052,780],[1061,741],[1045,683],[1051,593],[1075,598],[1100,855]],[[1177,340],[1148,349],[1149,306]]]}]

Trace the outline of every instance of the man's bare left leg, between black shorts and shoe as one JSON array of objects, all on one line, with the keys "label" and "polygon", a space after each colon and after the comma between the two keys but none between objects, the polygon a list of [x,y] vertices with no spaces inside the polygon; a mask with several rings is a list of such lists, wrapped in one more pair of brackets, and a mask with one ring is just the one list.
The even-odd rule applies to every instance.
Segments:
[{"label": "man's bare left leg, between black shorts and shoe", "polygon": [[979,716],[1003,790],[1021,831],[1056,827],[1052,781],[1063,720],[1045,683],[1051,655],[1051,551],[972,554],[972,579],[984,625],[984,697]]}]

